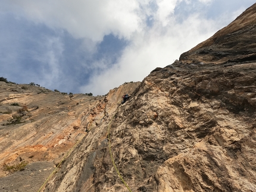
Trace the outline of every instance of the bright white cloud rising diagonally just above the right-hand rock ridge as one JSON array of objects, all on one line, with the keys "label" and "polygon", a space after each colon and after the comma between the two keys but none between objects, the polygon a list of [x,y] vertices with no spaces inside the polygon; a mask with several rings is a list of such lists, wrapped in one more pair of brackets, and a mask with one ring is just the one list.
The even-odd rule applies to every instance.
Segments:
[{"label": "bright white cloud rising diagonally just above the right-hand rock ridge", "polygon": [[201,19],[199,15],[191,15],[182,24],[175,23],[166,30],[155,24],[145,33],[136,33],[132,44],[128,46],[120,60],[113,68],[96,74],[90,83],[80,87],[82,93],[92,92],[103,95],[110,89],[129,81],[142,81],[146,75],[157,67],[165,67],[179,59],[181,53],[210,37],[217,28],[214,21]]}]

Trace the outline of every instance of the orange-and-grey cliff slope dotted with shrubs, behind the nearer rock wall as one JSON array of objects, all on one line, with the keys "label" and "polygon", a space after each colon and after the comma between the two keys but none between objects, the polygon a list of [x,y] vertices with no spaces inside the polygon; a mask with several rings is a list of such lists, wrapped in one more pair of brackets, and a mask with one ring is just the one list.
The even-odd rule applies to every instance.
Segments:
[{"label": "orange-and-grey cliff slope dotted with shrubs, behind the nearer rock wall", "polygon": [[0,191],[38,191],[65,153],[106,121],[121,96],[139,84],[125,83],[106,96],[70,97],[0,81]]}]

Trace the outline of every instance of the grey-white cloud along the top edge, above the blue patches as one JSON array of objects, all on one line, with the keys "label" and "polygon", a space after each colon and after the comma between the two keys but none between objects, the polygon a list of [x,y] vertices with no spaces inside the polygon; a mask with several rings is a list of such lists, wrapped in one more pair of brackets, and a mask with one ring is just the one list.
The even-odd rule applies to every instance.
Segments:
[{"label": "grey-white cloud along the top edge, above the blue patches", "polygon": [[15,10],[20,8],[25,17],[52,28],[67,30],[76,38],[89,38],[99,42],[105,34],[113,33],[129,38],[139,30],[141,22],[135,14],[139,4],[135,0],[14,0]]}]

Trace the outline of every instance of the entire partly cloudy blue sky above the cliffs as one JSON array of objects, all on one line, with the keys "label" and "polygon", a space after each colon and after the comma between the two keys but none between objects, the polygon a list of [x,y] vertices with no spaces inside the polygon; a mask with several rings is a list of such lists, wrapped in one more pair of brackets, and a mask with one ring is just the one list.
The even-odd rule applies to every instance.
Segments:
[{"label": "entire partly cloudy blue sky above the cliffs", "polygon": [[105,95],[213,36],[252,0],[1,0],[0,77]]}]

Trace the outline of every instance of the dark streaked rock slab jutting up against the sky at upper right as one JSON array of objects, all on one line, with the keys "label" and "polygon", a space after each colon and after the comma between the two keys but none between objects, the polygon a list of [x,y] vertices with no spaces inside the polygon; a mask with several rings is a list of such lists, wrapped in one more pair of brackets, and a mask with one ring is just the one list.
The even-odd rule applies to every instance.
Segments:
[{"label": "dark streaked rock slab jutting up against the sky at upper right", "polygon": [[180,55],[183,62],[243,62],[256,60],[256,8],[243,12],[235,21],[219,30],[210,39]]}]

